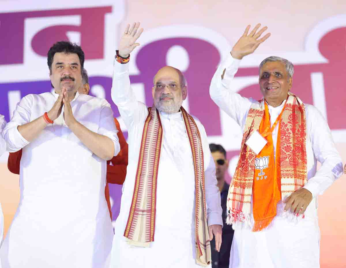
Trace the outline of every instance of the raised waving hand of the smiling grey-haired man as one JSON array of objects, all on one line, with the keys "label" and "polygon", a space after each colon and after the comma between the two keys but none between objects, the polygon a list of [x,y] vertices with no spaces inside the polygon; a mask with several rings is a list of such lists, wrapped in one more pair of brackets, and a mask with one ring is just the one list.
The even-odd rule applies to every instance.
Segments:
[{"label": "raised waving hand of the smiling grey-haired man", "polygon": [[242,59],[244,56],[253,53],[256,50],[256,48],[270,36],[270,33],[268,33],[262,38],[260,38],[261,35],[264,33],[264,31],[268,28],[268,27],[263,27],[261,30],[257,32],[260,26],[261,24],[257,24],[250,33],[248,32],[251,26],[248,25],[246,27],[244,34],[242,35],[242,37],[239,38],[237,43],[232,48],[232,51],[231,51],[232,57],[236,59]]}]

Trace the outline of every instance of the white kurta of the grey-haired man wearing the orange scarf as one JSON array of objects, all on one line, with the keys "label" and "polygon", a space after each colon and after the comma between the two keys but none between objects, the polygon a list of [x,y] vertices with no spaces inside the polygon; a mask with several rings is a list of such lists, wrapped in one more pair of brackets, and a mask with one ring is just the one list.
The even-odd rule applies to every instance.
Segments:
[{"label": "white kurta of the grey-haired man wearing the orange scarf", "polygon": [[[233,92],[231,81],[238,70],[239,60],[229,56],[212,78],[210,96],[215,103],[233,118],[244,131],[245,121],[253,99],[243,98]],[[226,68],[224,79],[221,74]],[[271,124],[283,109],[268,105]],[[277,216],[262,232],[242,228],[234,232],[230,255],[230,268],[317,268],[319,267],[319,227],[317,221],[317,196],[322,194],[343,173],[338,154],[326,120],[316,107],[305,104],[307,121],[308,183],[304,186],[312,193],[305,218],[297,224],[283,219],[284,204],[277,204]],[[277,124],[272,133],[276,150]],[[275,155],[275,153],[274,153]],[[317,171],[317,161],[322,166]]]}]

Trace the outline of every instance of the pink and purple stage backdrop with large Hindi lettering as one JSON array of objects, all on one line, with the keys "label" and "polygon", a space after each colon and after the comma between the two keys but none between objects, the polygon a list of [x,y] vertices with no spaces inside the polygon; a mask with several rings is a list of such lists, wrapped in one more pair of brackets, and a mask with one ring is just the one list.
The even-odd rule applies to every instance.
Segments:
[{"label": "pink and purple stage backdrop with large Hindi lettering", "polygon": [[[112,103],[111,75],[117,41],[127,22],[145,28],[140,46],[131,55],[130,79],[138,100],[152,104],[152,78],[171,65],[188,82],[183,106],[204,124],[209,141],[227,150],[229,181],[237,163],[240,128],[209,97],[217,65],[230,51],[247,24],[261,22],[272,36],[254,55],[243,59],[233,89],[261,98],[258,65],[263,58],[288,58],[295,66],[292,92],[315,105],[328,120],[336,146],[346,160],[345,83],[346,4],[308,0],[299,6],[271,1],[42,1],[0,0],[0,114],[9,120],[18,101],[29,93],[51,91],[46,54],[58,40],[79,43],[85,52],[90,93],[106,98],[127,137]],[[321,8],[323,6],[323,8]],[[18,176],[7,170],[8,154],[0,158],[0,202],[5,234],[19,202]],[[130,159],[133,160],[133,159]],[[136,159],[134,159],[136,160]],[[319,198],[321,267],[346,267],[345,175]],[[121,186],[110,185],[113,220],[119,213]]]}]

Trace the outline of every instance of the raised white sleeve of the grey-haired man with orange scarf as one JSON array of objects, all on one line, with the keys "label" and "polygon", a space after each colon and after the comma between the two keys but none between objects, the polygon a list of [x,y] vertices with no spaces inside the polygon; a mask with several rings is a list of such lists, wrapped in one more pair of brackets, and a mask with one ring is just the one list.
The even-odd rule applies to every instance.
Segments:
[{"label": "raised white sleeve of the grey-haired man with orange scarf", "polygon": [[[230,89],[234,75],[238,71],[239,63],[239,59],[229,55],[226,61],[217,68],[210,83],[209,93],[211,99],[239,126],[243,127],[248,110],[254,100],[244,98]],[[225,69],[224,78],[221,79]]]}]

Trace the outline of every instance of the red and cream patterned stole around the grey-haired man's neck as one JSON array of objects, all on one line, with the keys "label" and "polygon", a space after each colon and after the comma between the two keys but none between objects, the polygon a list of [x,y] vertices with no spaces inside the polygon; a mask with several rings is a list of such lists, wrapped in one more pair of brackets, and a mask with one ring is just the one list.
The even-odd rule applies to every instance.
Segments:
[{"label": "red and cream patterned stole around the grey-haired man's neck", "polygon": [[[227,224],[246,223],[252,227],[253,219],[250,215],[251,196],[255,172],[256,153],[245,141],[257,131],[264,116],[264,100],[252,104],[246,121],[238,165],[231,181],[227,197]],[[307,183],[307,156],[306,156],[306,116],[302,101],[289,93],[285,109],[279,122],[280,145],[275,159],[280,161],[277,170],[281,198],[299,190]],[[241,226],[241,225],[240,225]]]}]

